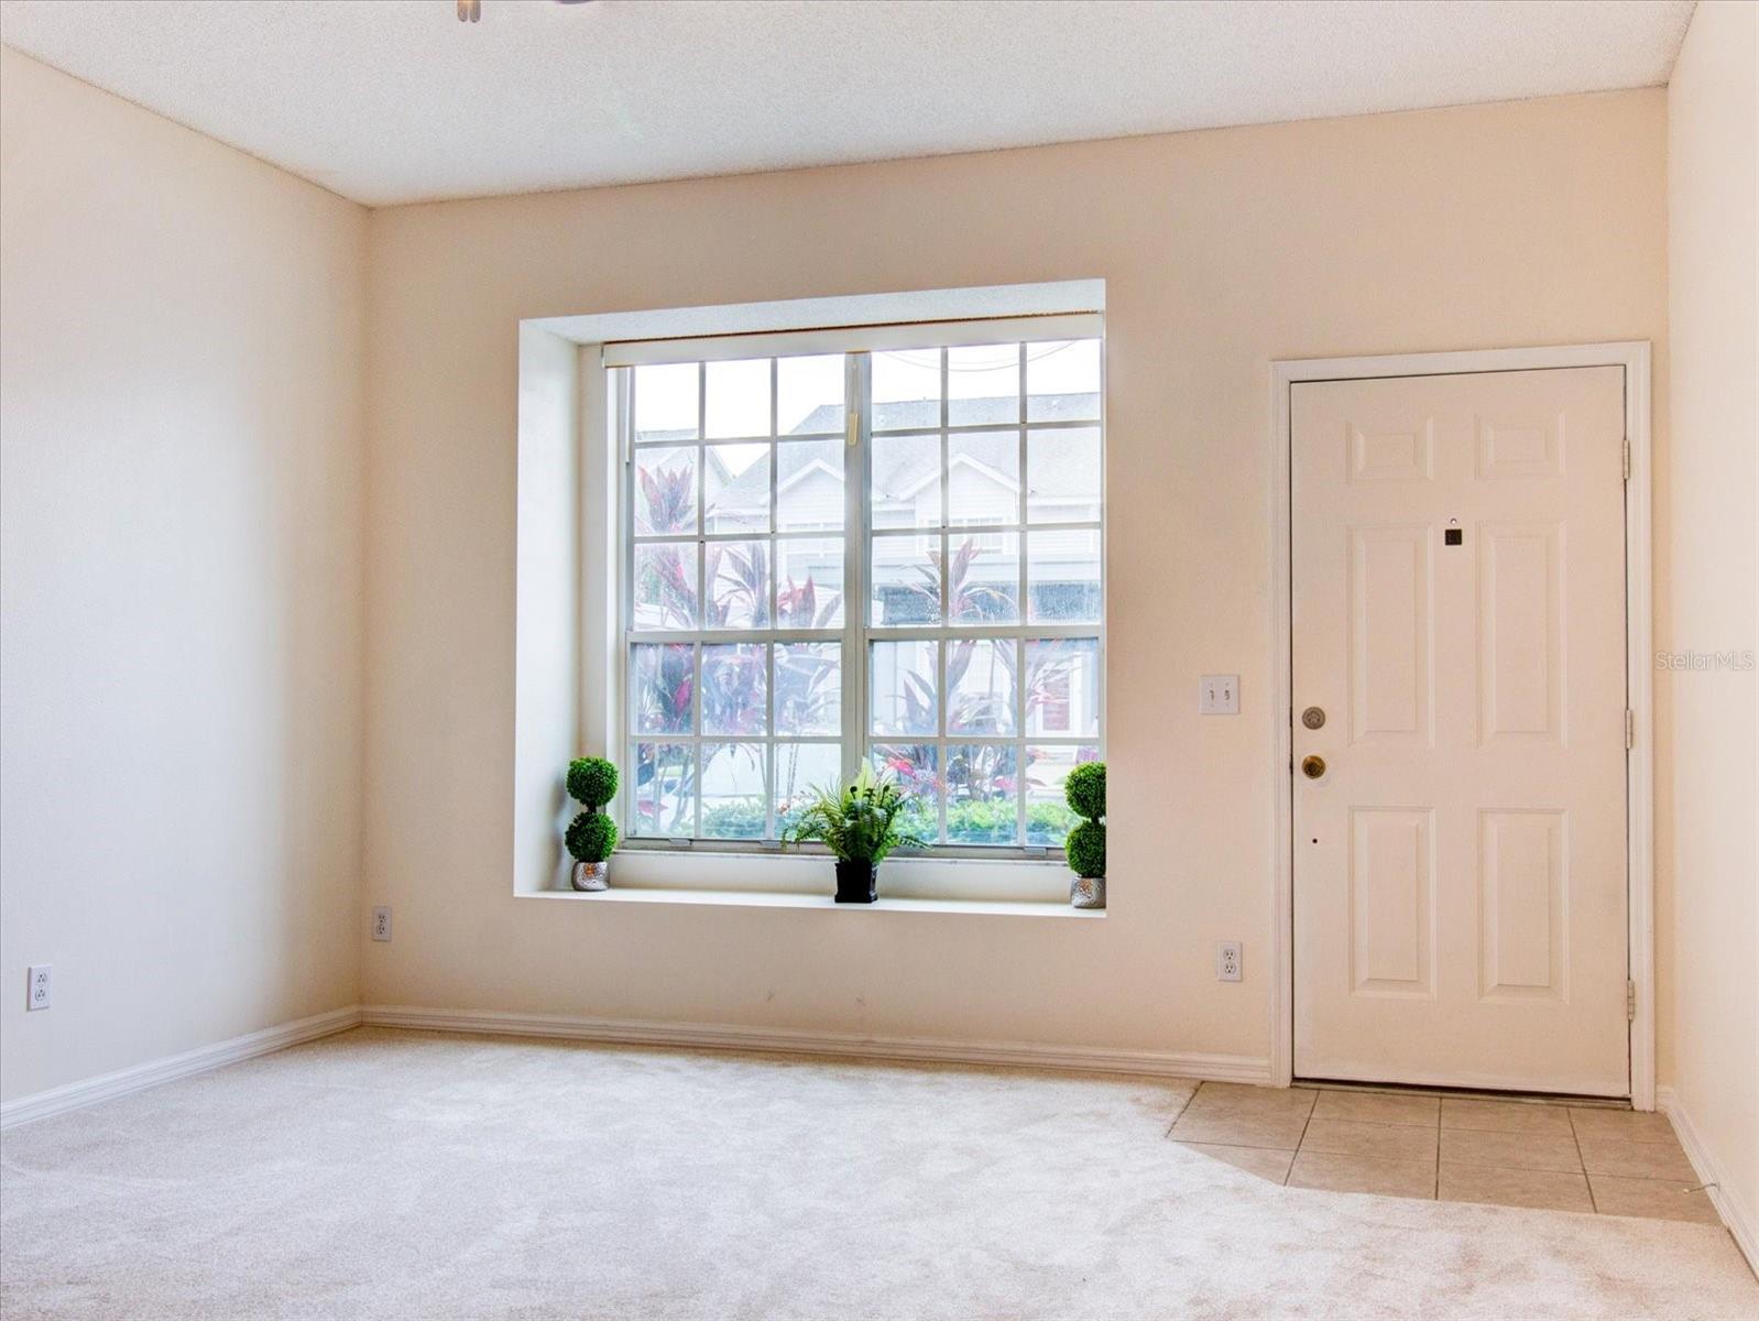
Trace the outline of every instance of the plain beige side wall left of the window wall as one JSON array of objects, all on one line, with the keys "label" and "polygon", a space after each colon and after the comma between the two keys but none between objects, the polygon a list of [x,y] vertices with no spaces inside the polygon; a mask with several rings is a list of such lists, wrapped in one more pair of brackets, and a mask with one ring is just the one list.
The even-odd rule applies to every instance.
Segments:
[{"label": "plain beige side wall left of the window wall", "polygon": [[7,1098],[355,1001],[364,288],[361,208],[0,51]]}]

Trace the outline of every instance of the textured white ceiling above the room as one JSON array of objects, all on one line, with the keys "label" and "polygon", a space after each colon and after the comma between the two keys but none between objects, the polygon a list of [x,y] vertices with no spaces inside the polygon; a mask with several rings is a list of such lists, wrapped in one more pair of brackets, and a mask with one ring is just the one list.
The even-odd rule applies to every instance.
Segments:
[{"label": "textured white ceiling above the room", "polygon": [[0,0],[373,206],[1666,83],[1690,0]]}]

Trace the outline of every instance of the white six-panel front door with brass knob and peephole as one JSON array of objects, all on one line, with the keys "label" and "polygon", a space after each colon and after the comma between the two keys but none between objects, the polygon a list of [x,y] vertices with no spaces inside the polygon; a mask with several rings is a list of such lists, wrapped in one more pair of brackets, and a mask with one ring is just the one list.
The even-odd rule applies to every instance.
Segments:
[{"label": "white six-panel front door with brass knob and peephole", "polygon": [[1627,1096],[1624,369],[1291,390],[1295,1071]]}]

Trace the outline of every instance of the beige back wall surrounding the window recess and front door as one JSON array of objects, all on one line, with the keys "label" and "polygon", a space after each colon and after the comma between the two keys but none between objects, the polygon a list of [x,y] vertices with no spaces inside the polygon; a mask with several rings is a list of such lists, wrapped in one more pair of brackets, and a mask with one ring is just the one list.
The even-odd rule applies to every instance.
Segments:
[{"label": "beige back wall surrounding the window recess and front door", "polygon": [[[1631,91],[376,211],[364,999],[1263,1061],[1270,361],[1653,339],[1664,463],[1664,139]],[[515,899],[517,322],[1096,276],[1110,915]]]}]

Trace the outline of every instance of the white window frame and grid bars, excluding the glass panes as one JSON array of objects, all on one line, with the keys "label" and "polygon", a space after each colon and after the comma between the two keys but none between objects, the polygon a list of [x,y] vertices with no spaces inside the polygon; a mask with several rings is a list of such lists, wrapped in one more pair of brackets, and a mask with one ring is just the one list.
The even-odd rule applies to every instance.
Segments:
[{"label": "white window frame and grid bars, excluding the glass panes", "polygon": [[[1033,420],[1029,419],[1029,376],[1027,364],[1031,361],[1029,348],[1033,343],[1045,341],[1066,341],[1066,339],[1098,339],[1099,341],[1099,405],[1098,417],[1094,419],[1068,419],[1068,420]],[[953,424],[950,420],[950,398],[948,398],[948,362],[950,355],[946,350],[967,347],[967,345],[994,345],[994,343],[1015,343],[1020,350],[1020,376],[1018,376],[1018,415],[1008,422],[992,424]],[[881,436],[936,436],[941,443],[939,459],[939,482],[941,482],[941,514],[934,526],[925,528],[895,528],[895,529],[876,529],[871,526],[869,510],[869,493],[872,489],[872,422],[874,422],[874,401],[872,401],[872,354],[888,352],[895,348],[915,348],[939,352],[939,419],[932,426],[922,427],[901,427],[881,431]],[[779,461],[777,445],[795,436],[781,436],[777,433],[777,359],[783,357],[802,357],[802,355],[843,355],[844,359],[844,429],[836,433],[802,433],[799,440],[841,440],[844,445],[844,468],[843,468],[843,494],[844,494],[844,517],[841,529],[820,529],[809,531],[802,529],[797,533],[783,533],[777,526],[777,480],[779,480]],[[739,359],[770,359],[770,392],[769,392],[769,434],[762,438],[709,438],[707,436],[707,364],[716,361],[739,361]],[[639,366],[656,366],[656,364],[681,364],[695,362],[698,366],[697,382],[697,431],[693,440],[679,440],[679,449],[695,449],[697,452],[697,528],[693,535],[642,535],[635,533],[635,473],[637,473],[637,452],[639,449],[665,449],[663,443],[642,445],[635,443],[635,373],[633,368]],[[765,755],[765,772],[763,772],[763,814],[765,814],[765,837],[758,839],[719,839],[693,834],[684,836],[658,836],[658,834],[637,834],[635,823],[635,795],[626,792],[619,795],[616,806],[617,823],[623,832],[621,848],[642,850],[642,851],[698,851],[698,853],[774,853],[779,850],[776,839],[776,749],[790,744],[834,744],[841,749],[841,774],[846,779],[857,774],[858,767],[869,760],[871,746],[881,746],[887,742],[897,744],[931,744],[938,749],[936,776],[941,779],[943,792],[938,795],[938,836],[946,834],[946,816],[948,816],[948,793],[946,785],[946,758],[945,749],[960,744],[969,746],[1010,746],[1015,749],[1017,760],[1024,758],[1027,748],[1033,746],[1069,746],[1069,748],[1096,748],[1099,758],[1105,758],[1106,748],[1106,607],[1108,607],[1108,589],[1106,589],[1106,500],[1105,500],[1105,325],[1098,313],[1091,315],[1055,315],[1055,317],[1027,317],[1011,320],[969,320],[969,322],[950,322],[950,324],[902,324],[902,325],[880,325],[880,327],[860,327],[860,329],[834,329],[834,331],[795,331],[795,332],[777,332],[777,334],[737,334],[737,336],[719,336],[711,339],[670,339],[670,341],[646,341],[646,343],[628,343],[628,345],[605,345],[602,348],[602,369],[607,376],[607,405],[609,405],[609,438],[614,445],[616,454],[616,478],[614,478],[614,505],[617,517],[617,563],[616,563],[616,623],[617,637],[610,651],[610,672],[607,674],[610,690],[610,726],[609,748],[616,749],[619,760],[630,767],[626,776],[630,790],[633,790],[633,756],[635,746],[639,742],[667,744],[670,741],[682,742],[691,749],[695,758],[695,779],[697,793],[693,811],[693,827],[697,832],[702,830],[702,755],[704,748],[714,742],[755,742],[767,749]],[[1061,522],[1033,522],[1029,517],[1029,438],[1034,431],[1082,431],[1096,429],[1099,433],[1099,468],[1101,468],[1101,489],[1098,500],[1098,519],[1078,519],[1078,521],[1061,521]],[[955,524],[950,521],[948,508],[948,484],[950,484],[950,450],[952,443],[960,434],[1008,434],[1015,433],[1018,436],[1018,507],[1015,521],[1010,524],[992,526],[992,524]],[[770,522],[763,531],[726,531],[711,533],[707,531],[707,508],[705,508],[705,457],[709,447],[718,443],[765,443],[770,447],[769,454],[769,510]],[[885,535],[892,531],[899,536],[923,536],[939,540],[941,547],[950,551],[959,535],[964,531],[967,535],[983,535],[985,531],[999,531],[1001,535],[1011,535],[1018,544],[1018,565],[1017,565],[1017,602],[1018,602],[1018,621],[1011,624],[953,624],[948,619],[948,582],[946,573],[941,573],[941,621],[934,624],[871,624],[869,614],[872,602],[869,600],[871,586],[871,563],[874,533]],[[1029,538],[1034,531],[1073,531],[1073,533],[1091,533],[1098,542],[1098,619],[1092,623],[1033,623],[1031,621],[1031,596],[1029,596]],[[705,547],[711,542],[739,542],[753,540],[765,544],[770,552],[767,554],[767,579],[770,593],[770,624],[774,624],[774,602],[777,600],[779,584],[776,582],[776,561],[774,545],[777,540],[813,540],[813,538],[830,538],[837,536],[843,540],[843,624],[834,630],[790,630],[790,628],[748,628],[748,630],[711,630],[700,623],[690,630],[653,630],[644,628],[635,630],[635,547],[640,544],[653,544],[658,540],[688,540],[697,549],[697,595],[698,602],[705,603],[711,593],[711,584],[702,580],[705,572]],[[943,559],[945,563],[945,559]],[[1013,726],[1015,732],[1010,735],[962,735],[948,733],[948,691],[946,691],[946,661],[952,640],[960,637],[971,639],[994,639],[1008,640],[1015,647],[1015,709],[1013,709]],[[1078,639],[1094,642],[1094,728],[1092,737],[1080,737],[1078,733],[1057,733],[1043,732],[1034,735],[1027,723],[1027,684],[1025,684],[1025,647],[1027,642],[1036,640],[1055,640],[1055,639]],[[871,733],[871,686],[869,686],[869,656],[874,642],[911,642],[911,640],[932,640],[936,644],[936,684],[938,684],[938,702],[936,702],[936,733],[915,733],[915,735],[878,735]],[[691,690],[693,690],[693,714],[691,730],[665,735],[665,733],[639,733],[635,730],[633,705],[637,700],[635,684],[631,675],[635,672],[635,646],[642,644],[684,644],[691,646]],[[841,644],[841,726],[834,735],[783,735],[776,730],[776,646],[786,646],[788,642],[837,642]],[[758,735],[725,735],[716,737],[702,730],[704,723],[704,704],[702,704],[702,660],[705,646],[718,644],[756,644],[763,646],[763,665],[765,665],[765,726],[763,733]],[[1075,700],[1073,684],[1069,698]],[[1008,844],[992,843],[936,843],[931,848],[909,850],[908,857],[920,858],[980,858],[985,862],[1004,862],[1008,858],[1020,860],[1059,860],[1062,858],[1062,846],[1059,844],[1033,844],[1029,843],[1029,807],[1031,799],[1027,795],[1025,785],[1025,767],[1017,765],[1017,788],[1015,788],[1015,841]],[[813,851],[821,851],[821,846],[809,846]],[[899,857],[906,857],[901,851]]]}]

